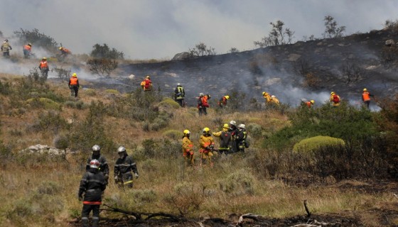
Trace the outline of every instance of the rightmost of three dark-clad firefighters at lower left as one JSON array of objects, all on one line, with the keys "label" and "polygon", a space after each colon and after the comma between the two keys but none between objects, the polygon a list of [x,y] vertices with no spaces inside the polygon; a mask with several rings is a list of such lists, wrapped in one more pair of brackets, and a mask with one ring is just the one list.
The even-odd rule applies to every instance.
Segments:
[{"label": "rightmost of three dark-clad firefighters at lower left", "polygon": [[119,158],[114,165],[114,182],[118,184],[119,187],[126,186],[132,188],[133,175],[131,172],[134,172],[136,178],[139,177],[136,162],[134,162],[131,156],[127,155],[126,148],[123,146],[117,148],[117,154]]}]

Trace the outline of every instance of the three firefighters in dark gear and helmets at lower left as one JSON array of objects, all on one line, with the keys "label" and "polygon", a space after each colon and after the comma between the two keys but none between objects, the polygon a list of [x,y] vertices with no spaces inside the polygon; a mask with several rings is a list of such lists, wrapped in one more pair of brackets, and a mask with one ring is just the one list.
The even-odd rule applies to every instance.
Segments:
[{"label": "three firefighters in dark gear and helmets at lower left", "polygon": [[[99,145],[92,146],[92,155],[88,157],[86,172],[80,180],[77,193],[78,199],[83,202],[82,226],[89,226],[89,216],[92,211],[92,226],[99,224],[99,206],[102,204],[102,195],[109,179],[109,165],[107,159],[100,153]],[[124,146],[117,148],[118,158],[114,164],[114,183],[120,188],[133,187],[133,178],[139,177],[136,162]],[[133,176],[134,174],[134,176]]]}]

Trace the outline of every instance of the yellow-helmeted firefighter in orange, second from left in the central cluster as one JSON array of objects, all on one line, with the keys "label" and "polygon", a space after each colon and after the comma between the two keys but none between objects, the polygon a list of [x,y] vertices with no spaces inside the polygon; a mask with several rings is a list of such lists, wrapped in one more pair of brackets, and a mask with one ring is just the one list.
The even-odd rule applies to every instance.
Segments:
[{"label": "yellow-helmeted firefighter in orange, second from left in the central cluster", "polygon": [[212,167],[213,163],[213,151],[214,151],[214,139],[211,137],[210,128],[203,128],[203,135],[200,135],[200,159],[201,165],[209,165]]}]

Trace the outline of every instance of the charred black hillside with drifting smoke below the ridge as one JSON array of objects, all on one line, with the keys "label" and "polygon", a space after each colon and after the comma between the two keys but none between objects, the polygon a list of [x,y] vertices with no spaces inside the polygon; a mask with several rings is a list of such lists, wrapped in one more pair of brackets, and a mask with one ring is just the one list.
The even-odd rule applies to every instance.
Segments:
[{"label": "charred black hillside with drifting smoke below the ridge", "polygon": [[151,74],[154,86],[166,95],[180,82],[188,104],[200,92],[218,99],[237,91],[248,100],[262,101],[262,91],[267,91],[292,105],[301,98],[323,102],[332,90],[345,99],[360,99],[363,87],[376,96],[389,96],[397,91],[398,81],[394,67],[381,63],[382,52],[394,48],[385,45],[387,40],[398,40],[398,34],[371,31],[224,55],[122,65],[126,74],[136,75],[122,80],[131,89]]}]

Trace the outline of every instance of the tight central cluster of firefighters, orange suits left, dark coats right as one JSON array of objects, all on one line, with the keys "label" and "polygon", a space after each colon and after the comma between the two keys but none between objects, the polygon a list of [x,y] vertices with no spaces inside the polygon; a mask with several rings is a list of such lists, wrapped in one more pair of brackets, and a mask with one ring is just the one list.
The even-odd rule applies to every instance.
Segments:
[{"label": "tight central cluster of firefighters, orange suits left, dark coats right", "polygon": [[[212,137],[210,128],[206,127],[202,130],[199,138],[199,165],[214,165],[214,158],[219,159],[222,155],[230,155],[232,153],[244,153],[244,148],[249,148],[247,141],[246,126],[241,123],[237,126],[235,121],[225,123],[222,130],[213,132],[215,137],[220,138],[218,149],[215,148],[215,141]],[[195,166],[195,148],[194,143],[190,140],[190,131],[183,131],[183,157],[185,166]]]}]

